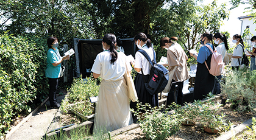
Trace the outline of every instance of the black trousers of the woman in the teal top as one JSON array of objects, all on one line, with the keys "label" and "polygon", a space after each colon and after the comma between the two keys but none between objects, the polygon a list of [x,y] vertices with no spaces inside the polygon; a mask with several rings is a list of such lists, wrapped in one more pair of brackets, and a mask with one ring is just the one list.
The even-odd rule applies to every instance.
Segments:
[{"label": "black trousers of the woman in the teal top", "polygon": [[50,104],[51,106],[55,105],[55,103],[57,103],[57,100],[56,100],[56,90],[58,88],[58,85],[59,85],[59,78],[57,79],[51,79],[51,78],[48,78],[49,80],[49,86],[50,86],[50,90],[49,90],[49,101],[50,101]]}]

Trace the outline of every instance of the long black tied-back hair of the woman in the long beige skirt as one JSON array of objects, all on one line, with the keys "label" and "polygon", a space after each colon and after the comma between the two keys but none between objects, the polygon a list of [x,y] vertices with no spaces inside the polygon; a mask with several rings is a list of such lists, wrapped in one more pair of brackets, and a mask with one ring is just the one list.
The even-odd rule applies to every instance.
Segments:
[{"label": "long black tied-back hair of the woman in the long beige skirt", "polygon": [[114,65],[114,62],[117,60],[118,58],[118,53],[116,52],[116,36],[113,33],[107,33],[104,35],[103,42],[107,43],[110,46],[110,55],[111,55],[111,60],[110,63]]}]

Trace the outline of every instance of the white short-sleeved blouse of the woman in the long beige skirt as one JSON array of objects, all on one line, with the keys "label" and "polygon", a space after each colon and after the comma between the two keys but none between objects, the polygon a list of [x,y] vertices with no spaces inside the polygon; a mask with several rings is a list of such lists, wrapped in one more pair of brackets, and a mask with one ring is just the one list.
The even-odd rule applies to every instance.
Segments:
[{"label": "white short-sleeved blouse of the woman in the long beige skirt", "polygon": [[130,62],[127,61],[126,55],[123,52],[118,52],[118,58],[114,62],[114,65],[110,63],[111,55],[109,51],[101,52],[94,60],[93,68],[91,71],[96,74],[100,74],[104,80],[115,81],[121,80],[126,72],[126,63],[128,70],[132,71]]}]

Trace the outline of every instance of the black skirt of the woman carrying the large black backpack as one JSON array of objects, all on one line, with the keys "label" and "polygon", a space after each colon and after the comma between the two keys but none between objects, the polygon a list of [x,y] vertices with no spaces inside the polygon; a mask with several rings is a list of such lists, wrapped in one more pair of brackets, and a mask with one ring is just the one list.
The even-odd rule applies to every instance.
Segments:
[{"label": "black skirt of the woman carrying the large black backpack", "polygon": [[[144,75],[146,81],[149,79],[149,75]],[[137,74],[135,81],[134,81],[135,89],[138,95],[138,102],[141,102],[143,105],[145,103],[149,103],[151,107],[158,107],[158,95],[154,94],[151,95],[145,89],[144,79],[142,74]],[[130,102],[130,108],[137,110],[137,102]]]}]

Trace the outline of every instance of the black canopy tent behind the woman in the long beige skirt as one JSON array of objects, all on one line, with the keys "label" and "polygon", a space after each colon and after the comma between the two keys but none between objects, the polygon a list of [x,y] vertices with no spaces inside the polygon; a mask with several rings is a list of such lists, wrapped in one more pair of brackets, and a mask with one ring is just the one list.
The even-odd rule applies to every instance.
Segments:
[{"label": "black canopy tent behind the woman in the long beige skirt", "polygon": [[[137,47],[133,41],[133,38],[121,40],[123,41],[124,54],[132,54],[132,56],[135,57]],[[91,68],[96,56],[103,51],[101,43],[102,40],[85,40],[74,38],[77,72],[82,74],[83,79],[91,74]]]}]

